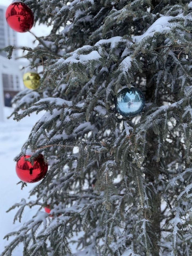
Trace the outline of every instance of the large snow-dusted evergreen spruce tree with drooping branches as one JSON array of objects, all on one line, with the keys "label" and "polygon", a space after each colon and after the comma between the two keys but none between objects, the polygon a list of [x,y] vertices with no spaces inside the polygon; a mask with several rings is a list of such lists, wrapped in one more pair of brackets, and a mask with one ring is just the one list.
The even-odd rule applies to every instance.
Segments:
[{"label": "large snow-dusted evergreen spruce tree with drooping branches", "polygon": [[[30,149],[49,169],[11,207],[14,221],[39,210],[1,255],[192,255],[192,1],[23,2],[53,28],[22,48],[41,86],[14,98],[14,119],[44,114],[15,160]],[[114,102],[131,86],[145,108],[129,118]]]}]

